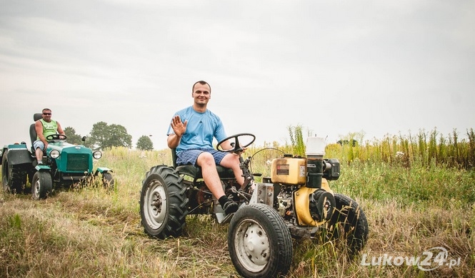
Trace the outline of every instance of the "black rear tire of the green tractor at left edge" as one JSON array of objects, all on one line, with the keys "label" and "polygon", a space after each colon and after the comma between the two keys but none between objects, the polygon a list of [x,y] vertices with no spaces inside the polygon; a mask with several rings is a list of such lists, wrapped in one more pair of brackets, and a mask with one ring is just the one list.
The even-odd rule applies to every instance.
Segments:
[{"label": "black rear tire of the green tractor at left edge", "polygon": [[26,185],[26,170],[22,165],[11,165],[8,159],[8,150],[1,160],[1,182],[6,192],[19,194]]}]

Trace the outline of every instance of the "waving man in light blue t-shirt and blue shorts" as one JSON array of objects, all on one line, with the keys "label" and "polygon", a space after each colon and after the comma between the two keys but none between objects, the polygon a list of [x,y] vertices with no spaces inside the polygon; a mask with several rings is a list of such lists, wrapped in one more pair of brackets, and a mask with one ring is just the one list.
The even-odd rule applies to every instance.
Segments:
[{"label": "waving man in light blue t-shirt and blue shorts", "polygon": [[[176,164],[191,164],[201,167],[203,179],[214,197],[219,200],[226,215],[236,212],[237,202],[224,194],[216,165],[231,168],[239,185],[243,185],[244,177],[239,168],[239,156],[224,153],[213,148],[213,139],[218,142],[226,138],[221,119],[206,108],[211,99],[211,86],[205,81],[194,83],[191,90],[193,105],[179,110],[171,119],[168,138],[169,148],[176,148]],[[229,143],[223,143],[223,149],[231,149]]]}]

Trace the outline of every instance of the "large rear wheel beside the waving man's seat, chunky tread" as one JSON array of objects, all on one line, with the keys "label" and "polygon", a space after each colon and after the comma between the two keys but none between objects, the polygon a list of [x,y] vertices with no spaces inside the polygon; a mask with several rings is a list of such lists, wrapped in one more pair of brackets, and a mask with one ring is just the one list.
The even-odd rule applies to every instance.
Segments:
[{"label": "large rear wheel beside the waving man's seat, chunky tread", "polygon": [[154,166],[146,173],[140,193],[140,217],[150,237],[179,237],[188,215],[186,186],[172,168]]}]

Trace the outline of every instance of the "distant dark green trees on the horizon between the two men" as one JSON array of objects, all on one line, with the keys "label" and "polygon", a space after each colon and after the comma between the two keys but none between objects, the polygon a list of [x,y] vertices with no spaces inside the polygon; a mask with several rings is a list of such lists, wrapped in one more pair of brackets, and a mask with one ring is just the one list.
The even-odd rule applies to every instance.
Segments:
[{"label": "distant dark green trees on the horizon between the two men", "polygon": [[[123,125],[110,124],[105,122],[94,123],[89,136],[81,136],[76,134],[76,130],[71,126],[64,128],[68,143],[85,145],[92,149],[106,149],[112,147],[131,148],[132,136],[127,133],[127,129]],[[85,140],[83,141],[83,138]],[[154,143],[151,142],[149,136],[142,135],[137,140],[136,148],[138,150],[153,150]]]}]

